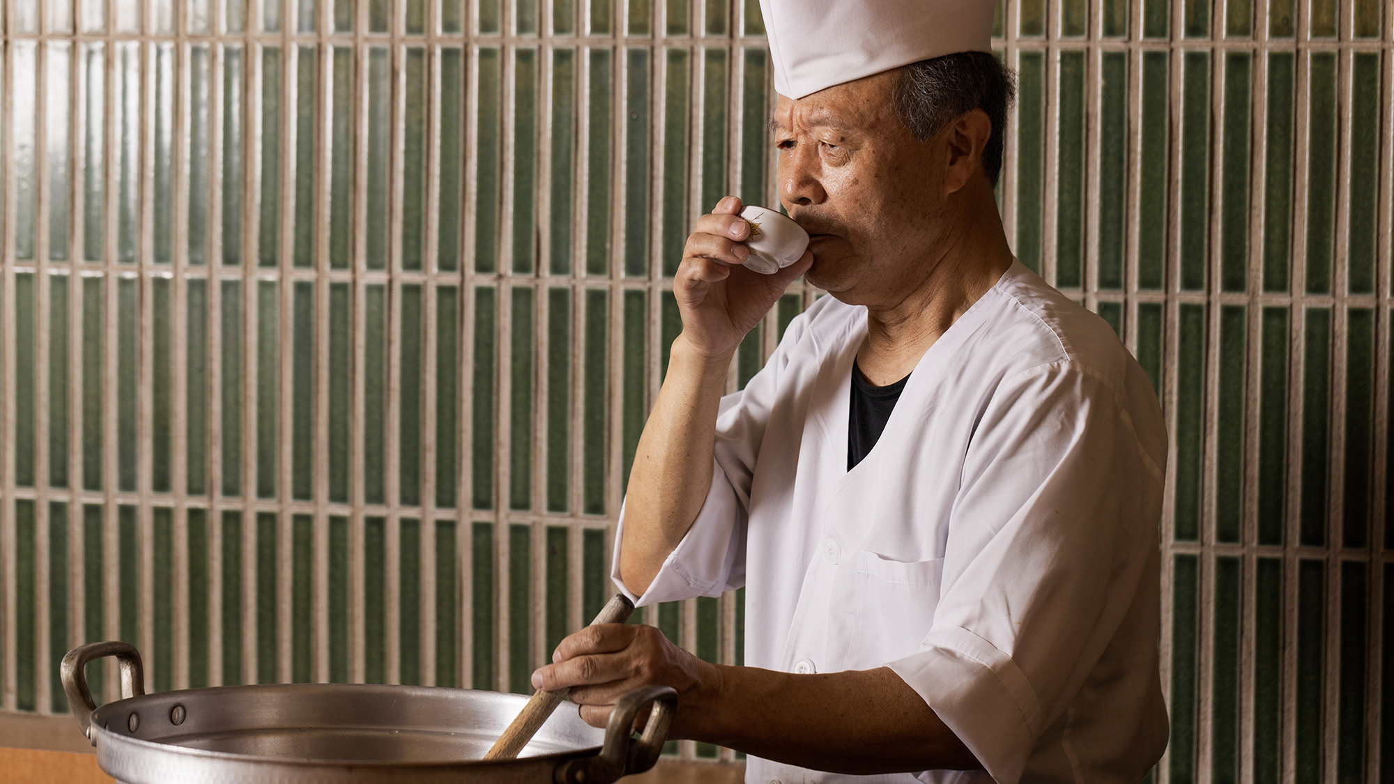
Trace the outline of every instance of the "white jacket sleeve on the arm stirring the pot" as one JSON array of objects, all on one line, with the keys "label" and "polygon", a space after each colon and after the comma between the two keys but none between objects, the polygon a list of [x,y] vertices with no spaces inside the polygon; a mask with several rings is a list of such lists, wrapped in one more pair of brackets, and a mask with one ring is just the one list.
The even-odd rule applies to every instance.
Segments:
[{"label": "white jacket sleeve on the arm stirring the pot", "polygon": [[1154,409],[1065,361],[1004,382],[974,431],[933,628],[889,667],[999,784],[1022,778],[1154,573]]}]

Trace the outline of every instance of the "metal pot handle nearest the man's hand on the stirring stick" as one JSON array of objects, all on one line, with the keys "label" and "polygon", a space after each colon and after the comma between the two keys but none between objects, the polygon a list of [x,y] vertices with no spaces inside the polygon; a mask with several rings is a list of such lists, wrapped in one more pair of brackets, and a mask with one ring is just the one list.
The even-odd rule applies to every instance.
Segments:
[{"label": "metal pot handle nearest the man's hand on the stirring stick", "polygon": [[[648,714],[644,732],[634,741],[634,718],[648,703],[654,703],[654,710]],[[556,784],[611,784],[620,776],[654,767],[676,713],[677,692],[672,686],[641,686],[619,698],[605,725],[601,753],[559,766],[553,777]]]}]

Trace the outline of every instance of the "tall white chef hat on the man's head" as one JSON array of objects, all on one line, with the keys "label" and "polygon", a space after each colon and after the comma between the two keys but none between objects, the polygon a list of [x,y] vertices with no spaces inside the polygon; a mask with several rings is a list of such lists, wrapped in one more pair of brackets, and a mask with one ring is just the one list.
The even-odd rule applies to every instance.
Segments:
[{"label": "tall white chef hat on the man's head", "polygon": [[775,92],[803,98],[930,57],[991,52],[994,0],[760,0]]}]

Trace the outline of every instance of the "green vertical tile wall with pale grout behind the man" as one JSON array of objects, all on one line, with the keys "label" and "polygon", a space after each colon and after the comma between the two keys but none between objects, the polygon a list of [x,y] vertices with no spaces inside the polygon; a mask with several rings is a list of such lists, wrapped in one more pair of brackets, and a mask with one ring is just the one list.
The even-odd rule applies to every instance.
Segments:
[{"label": "green vertical tile wall with pale grout behind the man", "polygon": [[[526,691],[611,590],[689,226],[774,201],[757,3],[3,10],[0,707],[112,638],[153,689]],[[1008,236],[1172,434],[1163,783],[1394,781],[1391,28],[999,8]],[[739,663],[742,607],[641,619]]]}]

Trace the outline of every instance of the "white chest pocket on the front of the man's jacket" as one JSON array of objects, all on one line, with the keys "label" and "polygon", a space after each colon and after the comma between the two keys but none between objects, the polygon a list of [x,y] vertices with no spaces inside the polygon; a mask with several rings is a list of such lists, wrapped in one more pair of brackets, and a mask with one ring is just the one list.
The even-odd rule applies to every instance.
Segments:
[{"label": "white chest pocket on the front of the man's jacket", "polygon": [[859,640],[850,646],[848,668],[880,667],[920,653],[920,640],[934,625],[944,558],[892,561],[863,550],[857,554],[861,601]]}]

